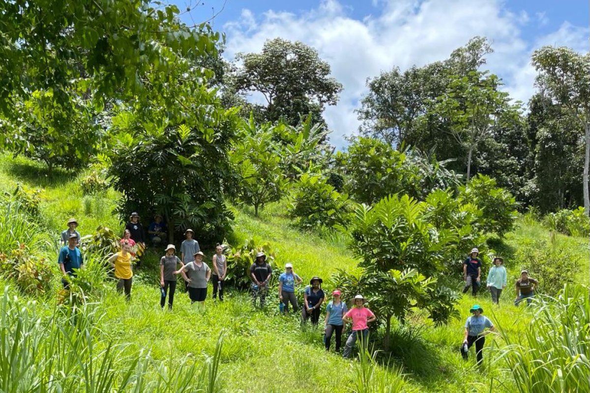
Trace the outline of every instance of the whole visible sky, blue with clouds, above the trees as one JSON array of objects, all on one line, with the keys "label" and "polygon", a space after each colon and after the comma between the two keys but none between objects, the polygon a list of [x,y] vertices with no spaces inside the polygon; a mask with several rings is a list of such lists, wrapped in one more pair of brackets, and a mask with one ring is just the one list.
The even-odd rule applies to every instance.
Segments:
[{"label": "whole visible sky, blue with clouds, above the trees", "polygon": [[[499,75],[514,100],[535,93],[532,52],[543,45],[590,49],[590,0],[172,0],[182,21],[209,20],[225,32],[227,60],[260,52],[267,39],[301,41],[317,49],[343,84],[324,112],[330,142],[346,146],[357,132],[355,109],[366,80],[393,67],[405,70],[448,58],[480,35],[494,53],[484,70]],[[190,11],[188,11],[188,9]],[[250,98],[257,101],[258,97]]]}]

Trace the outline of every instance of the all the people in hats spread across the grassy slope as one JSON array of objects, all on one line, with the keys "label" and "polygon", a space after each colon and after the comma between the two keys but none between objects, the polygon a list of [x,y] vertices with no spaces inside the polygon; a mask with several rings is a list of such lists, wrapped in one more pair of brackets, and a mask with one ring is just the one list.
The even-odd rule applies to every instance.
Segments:
[{"label": "all the people in hats spread across the grassy slope", "polygon": [[[161,216],[156,215],[155,222],[152,223],[155,225],[150,225],[149,233],[153,235],[152,242],[154,238],[159,238],[153,243],[161,242],[165,235],[165,225],[161,223],[161,219]],[[78,248],[80,245],[80,233],[76,230],[77,224],[76,219],[68,220],[68,229],[61,233],[61,241],[64,246],[60,250],[58,263],[64,276],[62,282],[65,289],[69,286],[67,277],[75,275],[76,269],[83,266],[83,258]],[[121,239],[120,251],[114,253],[108,259],[117,279],[117,291],[124,292],[127,300],[131,298],[134,250],[138,245],[145,246],[143,228],[139,223],[139,216],[137,213],[133,213]],[[168,299],[168,308],[172,309],[178,276],[181,276],[184,280],[186,292],[188,292],[191,299],[191,305],[196,309],[204,309],[205,307],[210,280],[213,282],[213,298],[219,298],[220,301],[223,301],[225,278],[228,272],[227,257],[223,255],[223,250],[223,247],[219,244],[215,247],[211,268],[204,262],[205,254],[201,251],[199,243],[194,239],[193,230],[187,229],[185,231],[185,240],[181,244],[180,257],[176,256],[176,246],[168,245],[165,249],[165,255],[160,258],[159,263],[160,307],[164,308],[166,299]],[[473,295],[477,295],[481,278],[481,260],[478,259],[478,255],[478,249],[474,248],[463,263],[465,279],[463,293],[466,293],[471,287],[473,288]],[[490,290],[492,302],[499,303],[501,292],[506,288],[506,268],[503,266],[504,260],[501,257],[495,257],[493,265],[487,276],[487,287]],[[251,296],[254,307],[264,307],[272,273],[273,269],[267,262],[266,255],[264,252],[258,252],[254,263],[250,267]],[[289,306],[294,312],[299,311],[296,286],[302,282],[300,276],[294,272],[293,264],[287,263],[285,271],[278,278],[278,297],[281,312],[289,313]],[[304,290],[303,307],[301,308],[302,323],[310,321],[312,325],[319,324],[321,307],[326,298],[322,283],[321,278],[314,276],[310,279],[309,286]],[[529,278],[527,271],[523,270],[520,279],[516,281],[514,305],[518,305],[524,299],[530,304],[537,284],[537,280]],[[351,309],[348,309],[341,296],[342,292],[340,290],[333,290],[332,300],[326,306],[324,345],[326,351],[329,351],[332,337],[335,337],[335,349],[339,352],[342,347],[342,335],[346,323],[352,324],[352,332],[346,339],[343,351],[343,356],[348,358],[358,339],[366,342],[369,333],[368,324],[374,322],[376,316],[370,309],[365,307],[366,299],[362,295],[355,296]],[[485,336],[494,331],[494,326],[489,318],[482,315],[483,308],[481,306],[474,305],[470,312],[472,315],[467,318],[465,324],[461,354],[467,359],[468,350],[475,345],[477,363],[481,364]]]}]

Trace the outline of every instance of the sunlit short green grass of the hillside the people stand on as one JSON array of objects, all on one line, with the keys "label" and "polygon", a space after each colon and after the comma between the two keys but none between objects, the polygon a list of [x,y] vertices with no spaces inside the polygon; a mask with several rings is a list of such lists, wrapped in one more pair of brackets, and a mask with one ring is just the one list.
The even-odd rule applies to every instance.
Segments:
[{"label": "sunlit short green grass of the hillside the people stand on", "polygon": [[[56,239],[65,228],[70,216],[80,222],[82,235],[91,233],[98,224],[122,232],[123,225],[112,214],[117,193],[109,190],[99,196],[83,196],[80,180],[84,174],[71,176],[56,171],[48,174],[37,164],[19,158],[0,159],[0,187],[11,191],[17,183],[31,189],[41,189],[41,231],[47,239]],[[329,279],[336,269],[355,269],[356,262],[346,250],[343,240],[334,236],[321,239],[302,234],[290,227],[283,216],[280,204],[264,210],[254,217],[250,210],[235,209],[235,238],[237,243],[254,237],[270,242],[279,266],[291,262],[304,280],[313,275]],[[531,220],[521,220],[514,232],[494,248],[506,256],[510,279],[517,276],[521,266],[510,264],[520,244],[546,237],[549,233]],[[220,239],[221,240],[221,239]],[[588,282],[588,246],[583,239],[558,236],[557,242],[566,242],[579,253],[579,279]],[[42,246],[47,257],[57,262],[57,248]],[[211,260],[211,250],[206,250],[206,262]],[[182,291],[176,293],[172,312],[159,307],[158,260],[163,250],[151,250],[145,258],[145,266],[136,272],[132,300],[127,303],[114,290],[114,282],[97,299],[94,305],[101,318],[96,319],[97,347],[112,341],[126,344],[126,351],[149,351],[154,359],[173,365],[181,359],[200,364],[215,351],[219,333],[224,332],[221,350],[221,387],[227,392],[333,392],[360,391],[356,388],[359,363],[347,361],[339,355],[327,354],[322,345],[322,330],[309,326],[300,328],[297,316],[278,315],[278,296],[273,291],[267,298],[264,311],[253,310],[246,293],[228,290],[223,303],[207,300],[205,312],[196,313],[189,306],[189,299]],[[55,263],[57,272],[57,263]],[[54,279],[57,291],[60,284]],[[457,282],[459,288],[460,282]],[[332,289],[329,283],[325,289]],[[504,345],[496,337],[486,343],[486,371],[478,372],[473,359],[464,362],[458,352],[462,340],[463,323],[468,309],[477,301],[497,326],[513,338],[526,331],[532,316],[531,310],[515,308],[511,302],[513,290],[507,289],[499,307],[491,305],[489,295],[477,300],[466,296],[460,300],[461,318],[448,325],[435,327],[417,311],[408,326],[397,326],[393,336],[394,354],[399,359],[379,358],[380,366],[373,381],[383,378],[400,379],[399,366],[407,381],[404,391],[431,392],[484,392],[511,391],[511,377],[501,361],[494,361],[497,348]],[[15,289],[9,289],[15,293]],[[211,288],[209,288],[209,298]],[[50,315],[55,306],[55,292],[38,301],[37,308]],[[496,351],[497,352],[497,351]],[[147,353],[147,352],[145,352]],[[355,371],[356,370],[356,371]],[[501,387],[499,384],[503,383]]]}]

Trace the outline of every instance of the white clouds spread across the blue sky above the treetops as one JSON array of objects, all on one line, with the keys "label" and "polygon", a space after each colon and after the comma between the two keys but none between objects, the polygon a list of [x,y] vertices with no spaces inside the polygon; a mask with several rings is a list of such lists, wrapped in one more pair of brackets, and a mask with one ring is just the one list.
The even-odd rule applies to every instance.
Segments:
[{"label": "white clouds spread across the blue sky above the treetops", "polygon": [[[506,89],[521,100],[533,93],[535,71],[530,53],[542,44],[579,47],[587,34],[584,29],[564,24],[555,33],[533,44],[522,37],[529,23],[526,12],[513,14],[501,0],[379,0],[381,14],[362,20],[350,18],[350,10],[336,0],[323,0],[308,12],[267,11],[253,15],[242,11],[241,21],[225,25],[228,58],[236,52],[258,52],[264,41],[276,37],[312,45],[329,62],[332,75],[344,85],[340,102],[326,109],[337,147],[346,144],[343,136],[356,132],[359,121],[354,109],[366,93],[365,81],[381,71],[398,66],[443,60],[453,49],[474,35],[489,38],[495,49],[487,68],[503,77]],[[537,15],[537,19],[542,19]]]}]

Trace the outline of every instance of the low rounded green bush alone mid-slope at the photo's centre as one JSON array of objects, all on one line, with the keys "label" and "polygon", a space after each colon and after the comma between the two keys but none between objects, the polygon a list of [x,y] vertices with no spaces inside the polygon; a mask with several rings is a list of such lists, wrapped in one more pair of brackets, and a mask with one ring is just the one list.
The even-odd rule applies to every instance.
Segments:
[{"label": "low rounded green bush alone mid-slope at the photo's centre", "polygon": [[346,226],[349,219],[348,195],[340,194],[319,174],[301,175],[288,209],[297,226],[305,230]]}]

